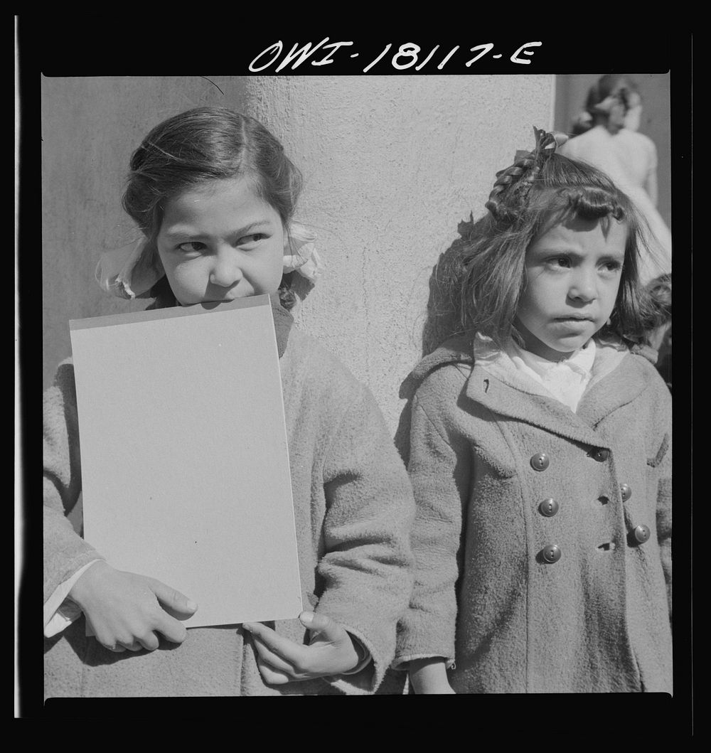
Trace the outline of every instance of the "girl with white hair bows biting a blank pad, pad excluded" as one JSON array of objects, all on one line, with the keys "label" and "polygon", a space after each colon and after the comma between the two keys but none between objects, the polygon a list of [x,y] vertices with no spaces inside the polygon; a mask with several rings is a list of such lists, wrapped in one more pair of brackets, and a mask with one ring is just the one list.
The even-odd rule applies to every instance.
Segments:
[{"label": "girl with white hair bows biting a blank pad, pad excluded", "polygon": [[[292,221],[298,169],[261,123],[223,108],[160,123],[130,167],[124,208],[142,239],[102,258],[107,291],[156,307],[271,296],[310,608],[298,620],[188,633],[181,620],[200,608],[190,594],[114,569],[74,531],[66,514],[81,467],[65,361],[44,408],[45,695],[377,691],[410,595],[413,497],[371,393],[292,326],[294,272],[316,279],[321,269],[313,236]],[[215,578],[240,587],[239,574]]]}]

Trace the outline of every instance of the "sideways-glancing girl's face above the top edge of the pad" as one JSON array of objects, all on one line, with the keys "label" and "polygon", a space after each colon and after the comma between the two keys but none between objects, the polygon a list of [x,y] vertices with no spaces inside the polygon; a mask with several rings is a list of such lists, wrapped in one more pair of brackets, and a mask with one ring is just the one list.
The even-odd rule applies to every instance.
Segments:
[{"label": "sideways-glancing girl's face above the top edge of the pad", "polygon": [[284,228],[248,178],[206,181],[170,200],[158,254],[183,306],[276,293]]}]

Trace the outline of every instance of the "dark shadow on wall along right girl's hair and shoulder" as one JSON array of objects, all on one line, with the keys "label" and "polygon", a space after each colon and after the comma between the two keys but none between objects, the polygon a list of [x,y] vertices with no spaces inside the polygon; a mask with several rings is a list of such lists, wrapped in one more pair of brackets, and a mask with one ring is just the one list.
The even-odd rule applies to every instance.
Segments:
[{"label": "dark shadow on wall along right girl's hair and shoulder", "polygon": [[[432,267],[423,325],[423,358],[435,352],[450,337],[465,337],[460,294],[460,282],[466,271],[463,259],[466,249],[478,236],[486,218],[487,215],[484,215],[475,222],[473,215],[470,215],[468,220],[462,220],[457,227],[459,238],[441,253],[437,264]],[[407,402],[400,413],[398,428],[395,431],[395,447],[398,448],[405,465],[410,459],[410,409],[417,386],[417,376],[410,374],[401,383],[399,392],[401,400]]]}]

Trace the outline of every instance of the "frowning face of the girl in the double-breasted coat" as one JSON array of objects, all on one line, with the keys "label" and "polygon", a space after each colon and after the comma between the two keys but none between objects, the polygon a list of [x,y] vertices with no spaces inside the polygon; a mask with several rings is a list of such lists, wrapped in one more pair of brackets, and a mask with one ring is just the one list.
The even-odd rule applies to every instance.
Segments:
[{"label": "frowning face of the girl in the double-breasted coat", "polygon": [[627,226],[571,218],[526,251],[517,328],[526,349],[550,361],[587,343],[615,308]]}]

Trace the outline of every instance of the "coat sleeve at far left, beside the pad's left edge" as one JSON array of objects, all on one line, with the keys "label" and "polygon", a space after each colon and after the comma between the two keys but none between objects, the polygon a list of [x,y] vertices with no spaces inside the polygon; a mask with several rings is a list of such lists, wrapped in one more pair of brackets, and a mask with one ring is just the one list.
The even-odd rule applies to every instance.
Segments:
[{"label": "coat sleeve at far left, beside the pad's left edge", "polygon": [[63,361],[44,393],[44,602],[63,581],[101,556],[66,517],[81,492],[74,366]]}]

